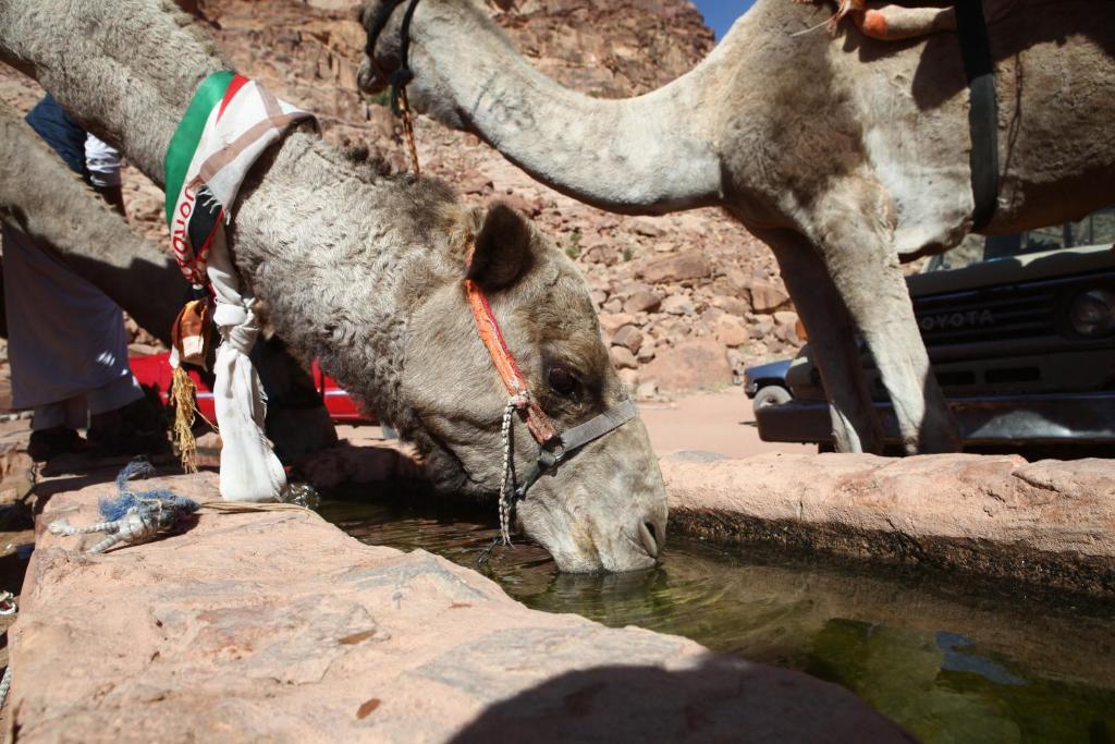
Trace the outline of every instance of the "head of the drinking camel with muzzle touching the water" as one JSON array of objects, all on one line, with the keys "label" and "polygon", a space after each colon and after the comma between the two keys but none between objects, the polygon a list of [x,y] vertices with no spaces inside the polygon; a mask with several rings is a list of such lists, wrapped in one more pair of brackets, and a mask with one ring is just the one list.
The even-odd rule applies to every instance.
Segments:
[{"label": "head of the drinking camel with muzzle touching the water", "polygon": [[[395,422],[414,438],[443,491],[491,496],[504,472],[501,435],[510,395],[477,332],[466,274],[491,303],[534,399],[561,431],[627,399],[576,267],[514,210],[453,205],[440,228],[447,258],[415,272],[406,361]],[[465,253],[474,245],[471,263]],[[522,482],[539,460],[523,418],[512,416]],[[493,512],[495,506],[493,506]],[[564,571],[627,571],[655,564],[666,537],[666,490],[639,418],[611,429],[544,472],[515,504],[513,525]]]}]

